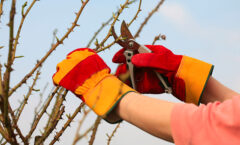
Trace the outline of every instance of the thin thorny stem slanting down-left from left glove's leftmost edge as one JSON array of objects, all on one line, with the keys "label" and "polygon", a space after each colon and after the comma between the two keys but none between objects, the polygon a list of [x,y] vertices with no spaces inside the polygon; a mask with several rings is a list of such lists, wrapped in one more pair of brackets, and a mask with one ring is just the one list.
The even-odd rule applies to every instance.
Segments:
[{"label": "thin thorny stem slanting down-left from left glove's leftmost edge", "polygon": [[53,91],[52,95],[48,98],[48,101],[46,102],[46,104],[44,105],[42,111],[40,112],[40,114],[37,116],[37,118],[34,120],[33,125],[28,133],[28,135],[26,136],[26,140],[28,141],[29,138],[31,137],[32,133],[34,132],[34,130],[36,129],[39,120],[42,118],[43,114],[46,112],[50,102],[52,101],[52,98],[54,97],[54,95],[56,94],[57,90],[59,89],[59,87],[56,87],[55,90]]}]

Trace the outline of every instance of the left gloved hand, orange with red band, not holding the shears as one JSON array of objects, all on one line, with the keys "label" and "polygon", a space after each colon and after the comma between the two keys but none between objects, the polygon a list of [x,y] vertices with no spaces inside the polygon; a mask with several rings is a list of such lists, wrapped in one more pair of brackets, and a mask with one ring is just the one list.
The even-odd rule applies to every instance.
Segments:
[{"label": "left gloved hand, orange with red band, not holding the shears", "polygon": [[80,48],[69,53],[57,65],[53,82],[73,92],[97,115],[115,123],[121,119],[111,111],[124,95],[134,90],[111,75],[110,71],[93,50]]}]

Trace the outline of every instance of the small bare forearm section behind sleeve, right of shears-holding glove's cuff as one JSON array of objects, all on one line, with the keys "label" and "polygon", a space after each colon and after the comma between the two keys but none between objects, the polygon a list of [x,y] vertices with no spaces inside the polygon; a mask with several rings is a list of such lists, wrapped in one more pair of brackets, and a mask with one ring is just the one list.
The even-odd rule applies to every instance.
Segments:
[{"label": "small bare forearm section behind sleeve, right of shears-holding glove's cuff", "polygon": [[214,101],[223,102],[237,95],[239,96],[240,94],[222,85],[213,77],[210,77],[207,86],[203,92],[201,103],[207,104]]}]

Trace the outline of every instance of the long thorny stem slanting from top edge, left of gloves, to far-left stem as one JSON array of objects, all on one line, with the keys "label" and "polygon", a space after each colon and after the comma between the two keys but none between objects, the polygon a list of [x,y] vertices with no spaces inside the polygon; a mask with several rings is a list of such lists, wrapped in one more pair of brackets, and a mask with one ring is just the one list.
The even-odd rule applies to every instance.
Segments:
[{"label": "long thorny stem slanting from top edge, left of gloves, to far-left stem", "polygon": [[45,60],[49,57],[49,55],[60,45],[63,44],[63,41],[68,38],[69,34],[71,32],[73,32],[73,29],[76,26],[79,26],[77,24],[78,19],[80,17],[80,15],[82,14],[83,9],[85,8],[85,6],[87,5],[87,3],[89,2],[89,0],[86,0],[82,3],[82,6],[80,8],[80,10],[78,11],[78,13],[76,13],[76,18],[74,20],[74,22],[72,23],[72,26],[68,29],[68,31],[64,34],[64,36],[60,39],[57,40],[57,42],[52,46],[52,48],[45,54],[45,56],[42,57],[42,59],[40,61],[37,62],[37,64],[35,65],[35,67],[16,85],[14,86],[10,92],[9,92],[9,96],[12,95],[13,92],[16,91],[17,88],[19,88],[23,83],[25,83],[29,77],[37,70],[38,67],[40,67],[42,65],[43,62],[45,62]]}]

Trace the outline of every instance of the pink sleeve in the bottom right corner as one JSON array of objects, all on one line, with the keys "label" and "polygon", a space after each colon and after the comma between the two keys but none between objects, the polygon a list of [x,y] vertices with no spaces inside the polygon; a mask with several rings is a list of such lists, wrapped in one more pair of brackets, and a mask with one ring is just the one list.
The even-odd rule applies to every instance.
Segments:
[{"label": "pink sleeve in the bottom right corner", "polygon": [[240,96],[199,107],[177,104],[171,128],[176,145],[240,145]]}]

